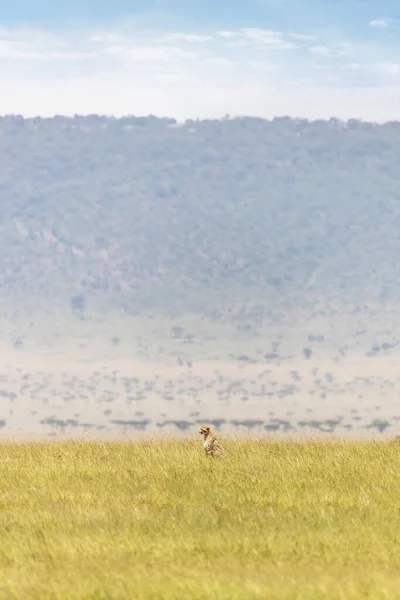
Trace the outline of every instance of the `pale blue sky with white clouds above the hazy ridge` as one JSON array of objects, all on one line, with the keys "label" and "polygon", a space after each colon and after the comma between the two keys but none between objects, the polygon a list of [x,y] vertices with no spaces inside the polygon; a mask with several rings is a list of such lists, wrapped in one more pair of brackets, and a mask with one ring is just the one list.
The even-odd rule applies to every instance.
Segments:
[{"label": "pale blue sky with white clouds above the hazy ridge", "polygon": [[0,114],[400,120],[399,0],[0,0]]}]

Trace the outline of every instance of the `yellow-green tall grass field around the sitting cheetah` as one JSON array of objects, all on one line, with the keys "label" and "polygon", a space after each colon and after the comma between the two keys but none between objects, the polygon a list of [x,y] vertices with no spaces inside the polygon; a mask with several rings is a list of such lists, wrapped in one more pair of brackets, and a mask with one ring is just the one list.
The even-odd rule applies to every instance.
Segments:
[{"label": "yellow-green tall grass field around the sitting cheetah", "polygon": [[0,445],[0,598],[400,598],[400,442]]}]

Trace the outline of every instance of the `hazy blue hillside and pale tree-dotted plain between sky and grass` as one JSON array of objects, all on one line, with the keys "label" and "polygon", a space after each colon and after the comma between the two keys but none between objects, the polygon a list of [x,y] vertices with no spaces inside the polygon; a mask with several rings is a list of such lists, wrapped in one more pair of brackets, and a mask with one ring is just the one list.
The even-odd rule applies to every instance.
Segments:
[{"label": "hazy blue hillside and pale tree-dotted plain between sky and grass", "polygon": [[400,124],[0,118],[2,436],[400,434]]}]

